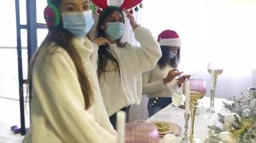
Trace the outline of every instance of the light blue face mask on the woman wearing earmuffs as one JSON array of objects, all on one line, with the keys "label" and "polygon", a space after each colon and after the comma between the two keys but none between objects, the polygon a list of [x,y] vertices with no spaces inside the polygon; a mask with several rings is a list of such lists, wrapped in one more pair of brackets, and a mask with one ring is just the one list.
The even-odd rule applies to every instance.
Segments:
[{"label": "light blue face mask on the woman wearing earmuffs", "polygon": [[67,29],[78,39],[86,36],[94,24],[93,15],[90,11],[63,13],[63,28]]}]

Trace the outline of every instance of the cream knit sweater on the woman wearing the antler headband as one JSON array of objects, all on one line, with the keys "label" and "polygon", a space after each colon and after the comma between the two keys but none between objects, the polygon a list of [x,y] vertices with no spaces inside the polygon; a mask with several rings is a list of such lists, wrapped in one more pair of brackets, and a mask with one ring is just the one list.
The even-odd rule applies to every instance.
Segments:
[{"label": "cream knit sweater on the woman wearing the antler headband", "polygon": [[109,116],[123,107],[140,104],[142,72],[154,68],[162,56],[160,46],[150,30],[139,25],[134,29],[134,36],[140,42],[140,47],[131,44],[126,44],[122,48],[116,44],[109,47],[119,62],[121,75],[119,76],[117,70],[112,70],[115,68],[109,61],[106,67],[108,71],[99,77],[101,93]]}]

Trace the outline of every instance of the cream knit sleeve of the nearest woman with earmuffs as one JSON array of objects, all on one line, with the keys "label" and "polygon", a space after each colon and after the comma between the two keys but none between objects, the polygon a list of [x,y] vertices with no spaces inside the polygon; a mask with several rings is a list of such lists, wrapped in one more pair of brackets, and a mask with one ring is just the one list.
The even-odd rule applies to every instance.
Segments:
[{"label": "cream knit sleeve of the nearest woman with earmuffs", "polygon": [[[45,58],[42,69],[32,75],[33,87],[45,116],[65,142],[116,142],[116,137],[101,127],[83,104],[83,94],[76,69],[65,52]],[[104,111],[103,111],[104,112]]]}]

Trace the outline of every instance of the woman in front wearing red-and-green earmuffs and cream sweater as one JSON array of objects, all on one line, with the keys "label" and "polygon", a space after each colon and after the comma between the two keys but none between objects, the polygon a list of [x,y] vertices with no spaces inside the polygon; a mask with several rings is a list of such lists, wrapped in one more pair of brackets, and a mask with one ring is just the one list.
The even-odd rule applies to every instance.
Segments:
[{"label": "woman in front wearing red-and-green earmuffs and cream sweater", "polygon": [[32,120],[23,142],[116,142],[96,74],[98,46],[86,37],[94,23],[89,0],[48,1],[45,20],[49,33],[32,61]]}]

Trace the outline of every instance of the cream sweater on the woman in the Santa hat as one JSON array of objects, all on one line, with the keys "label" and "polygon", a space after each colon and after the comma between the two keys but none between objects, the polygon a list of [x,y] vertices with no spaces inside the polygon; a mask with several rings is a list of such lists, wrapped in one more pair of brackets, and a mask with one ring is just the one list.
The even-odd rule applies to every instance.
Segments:
[{"label": "cream sweater on the woman in the Santa hat", "polygon": [[167,64],[164,69],[160,69],[157,64],[154,69],[147,71],[142,74],[143,88],[142,94],[147,94],[147,97],[172,97],[172,91],[178,89],[178,84],[175,79],[168,84],[163,84],[163,79],[167,77],[168,72],[172,70],[173,67]]}]

